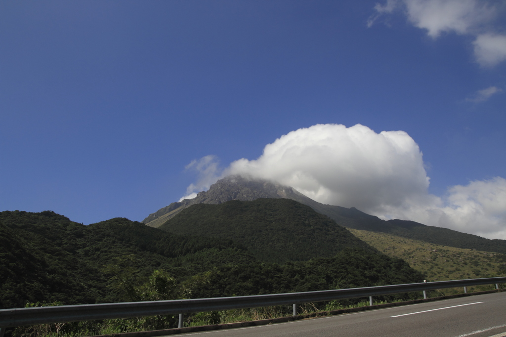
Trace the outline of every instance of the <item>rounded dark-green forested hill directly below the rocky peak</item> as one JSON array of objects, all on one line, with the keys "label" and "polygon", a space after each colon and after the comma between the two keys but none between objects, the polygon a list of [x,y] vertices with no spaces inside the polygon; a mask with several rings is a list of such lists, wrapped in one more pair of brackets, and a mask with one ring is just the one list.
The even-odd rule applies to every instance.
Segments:
[{"label": "rounded dark-green forested hill directly below the rocky peak", "polygon": [[195,204],[159,228],[231,239],[260,261],[273,263],[332,257],[345,247],[375,250],[333,220],[290,199]]}]

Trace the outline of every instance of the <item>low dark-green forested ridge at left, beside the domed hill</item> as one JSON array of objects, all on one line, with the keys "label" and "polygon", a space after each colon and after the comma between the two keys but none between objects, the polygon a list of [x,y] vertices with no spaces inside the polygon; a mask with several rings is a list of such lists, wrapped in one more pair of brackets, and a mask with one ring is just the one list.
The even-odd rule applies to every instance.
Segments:
[{"label": "low dark-green forested ridge at left, beside the domed hill", "polygon": [[184,237],[128,219],[90,226],[54,212],[0,213],[0,308],[26,302],[64,304],[122,300],[107,287],[111,273],[104,266],[134,255],[135,277],[142,283],[155,269],[177,279],[225,263],[254,261],[230,240]]}]

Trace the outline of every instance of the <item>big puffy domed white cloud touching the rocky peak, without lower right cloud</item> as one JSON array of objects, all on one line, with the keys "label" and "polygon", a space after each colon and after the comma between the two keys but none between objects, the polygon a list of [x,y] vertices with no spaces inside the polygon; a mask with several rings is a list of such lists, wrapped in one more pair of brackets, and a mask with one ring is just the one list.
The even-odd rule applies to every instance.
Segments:
[{"label": "big puffy domed white cloud touching the rocky peak, without lower right cloud", "polygon": [[226,174],[278,181],[323,203],[373,212],[426,193],[422,154],[403,131],[376,134],[357,124],[318,124],[268,144],[257,160],[239,159]]}]

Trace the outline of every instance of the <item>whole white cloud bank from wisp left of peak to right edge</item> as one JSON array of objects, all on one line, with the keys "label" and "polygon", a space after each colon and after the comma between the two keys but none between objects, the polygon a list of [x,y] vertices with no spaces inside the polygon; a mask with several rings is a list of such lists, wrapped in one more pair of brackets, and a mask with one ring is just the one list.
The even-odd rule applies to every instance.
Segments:
[{"label": "whole white cloud bank from wisp left of peak to right edge", "polygon": [[319,202],[354,206],[383,219],[506,239],[506,180],[473,181],[450,187],[443,196],[431,195],[422,153],[403,131],[318,124],[281,136],[257,159],[242,158],[220,169],[217,157],[206,156],[189,166],[199,172],[198,182],[188,188],[190,195],[219,177],[239,174],[276,181]]}]

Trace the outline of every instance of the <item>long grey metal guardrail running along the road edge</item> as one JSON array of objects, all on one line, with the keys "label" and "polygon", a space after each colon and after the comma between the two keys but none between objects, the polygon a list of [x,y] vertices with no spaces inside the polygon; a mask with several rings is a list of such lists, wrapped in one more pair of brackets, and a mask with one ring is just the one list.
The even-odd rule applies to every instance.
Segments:
[{"label": "long grey metal guardrail running along the road edge", "polygon": [[472,285],[485,285],[494,283],[496,284],[497,288],[497,285],[499,283],[506,283],[506,277],[476,278],[427,283],[408,283],[350,289],[290,292],[209,299],[2,309],[0,310],[0,337],[2,337],[6,327],[21,325],[175,314],[180,314],[181,318],[181,314],[190,312],[220,311],[279,305],[294,305],[295,315],[296,304],[301,303],[372,297],[402,292],[467,287]]}]

